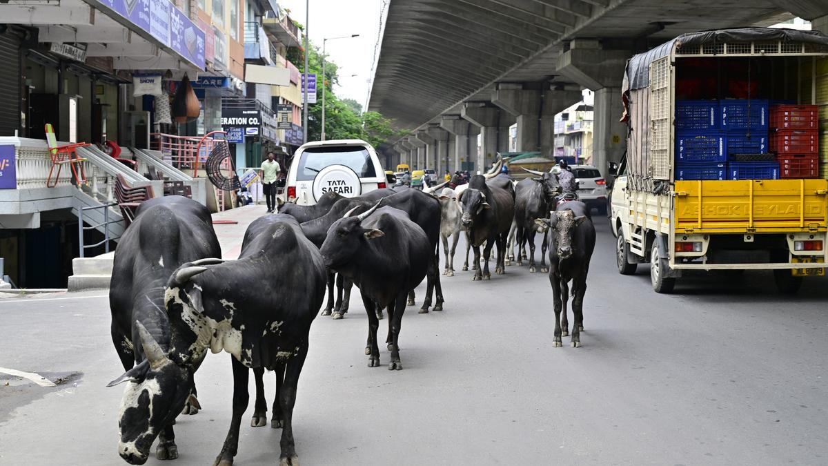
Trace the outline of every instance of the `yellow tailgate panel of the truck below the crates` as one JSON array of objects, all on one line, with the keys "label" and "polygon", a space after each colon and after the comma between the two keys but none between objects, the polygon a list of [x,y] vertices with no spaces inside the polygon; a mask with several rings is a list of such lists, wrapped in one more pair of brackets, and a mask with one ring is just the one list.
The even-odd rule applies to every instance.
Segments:
[{"label": "yellow tailgate panel of the truck below the crates", "polygon": [[828,180],[677,181],[676,235],[824,232]]}]

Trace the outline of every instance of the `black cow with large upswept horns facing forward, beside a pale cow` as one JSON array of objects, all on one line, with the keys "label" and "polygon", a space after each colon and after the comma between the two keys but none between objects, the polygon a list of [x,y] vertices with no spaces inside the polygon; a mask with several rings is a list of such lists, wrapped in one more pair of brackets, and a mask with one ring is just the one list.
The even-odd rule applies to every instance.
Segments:
[{"label": "black cow with large upswept horns facing forward, beside a pale cow", "polygon": [[495,243],[498,245],[498,255],[494,273],[505,273],[506,240],[514,217],[512,182],[498,177],[487,182],[483,175],[474,175],[469,188],[460,194],[459,200],[463,206],[460,224],[469,232],[475,264],[480,262],[480,245],[486,242],[483,267],[474,271],[473,280],[488,280],[492,277],[489,273],[489,255]]}]

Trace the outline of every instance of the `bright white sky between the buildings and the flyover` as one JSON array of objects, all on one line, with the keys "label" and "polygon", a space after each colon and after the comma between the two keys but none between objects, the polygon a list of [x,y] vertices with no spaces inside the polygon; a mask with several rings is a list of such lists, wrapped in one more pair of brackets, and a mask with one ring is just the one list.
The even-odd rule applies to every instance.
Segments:
[{"label": "bright white sky between the buildings and the flyover", "polygon": [[[383,3],[388,0],[307,1],[310,2],[310,27],[307,31],[310,32],[310,41],[320,49],[324,38],[359,34],[359,37],[327,41],[325,54],[328,60],[339,66],[336,95],[340,99],[354,99],[364,107],[372,78],[371,67],[374,45],[378,41],[380,12]],[[277,0],[277,3],[291,11],[291,19],[306,24],[306,0]],[[300,64],[296,63],[296,66]]]}]

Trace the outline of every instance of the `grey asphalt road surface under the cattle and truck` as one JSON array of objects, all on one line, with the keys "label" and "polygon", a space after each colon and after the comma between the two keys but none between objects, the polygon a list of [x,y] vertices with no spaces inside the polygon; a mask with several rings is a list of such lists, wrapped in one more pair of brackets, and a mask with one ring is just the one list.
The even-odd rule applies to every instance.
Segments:
[{"label": "grey asphalt road surface under the cattle and truck", "polygon": [[[525,265],[486,282],[458,267],[444,312],[408,308],[403,371],[384,349],[368,368],[357,293],[344,320],[317,318],[294,411],[302,464],[828,464],[828,281],[791,298],[768,273],[696,274],[658,295],[647,269],[618,274],[598,230],[580,348],[551,346],[551,288]],[[124,464],[104,296],[0,301],[0,367],[60,379],[0,374],[0,464]],[[179,418],[174,464],[219,453],[229,355],[196,383],[204,410]],[[250,428],[252,405],[236,464],[275,464],[279,432]]]}]

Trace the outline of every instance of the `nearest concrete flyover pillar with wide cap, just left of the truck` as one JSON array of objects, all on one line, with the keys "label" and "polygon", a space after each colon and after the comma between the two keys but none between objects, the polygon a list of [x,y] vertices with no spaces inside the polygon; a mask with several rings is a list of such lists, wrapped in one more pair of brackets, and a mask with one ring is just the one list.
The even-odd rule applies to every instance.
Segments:
[{"label": "nearest concrete flyover pillar with wide cap, just left of the truck", "polygon": [[621,84],[630,56],[632,51],[607,50],[599,41],[575,39],[558,57],[558,73],[595,91],[592,164],[604,176],[607,162],[619,162],[627,147],[627,127],[620,122]]}]

